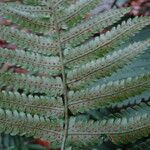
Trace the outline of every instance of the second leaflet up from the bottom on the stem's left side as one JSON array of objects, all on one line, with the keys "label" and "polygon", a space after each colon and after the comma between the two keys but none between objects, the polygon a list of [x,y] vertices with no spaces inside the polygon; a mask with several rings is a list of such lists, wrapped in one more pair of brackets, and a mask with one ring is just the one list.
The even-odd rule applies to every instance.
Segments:
[{"label": "second leaflet up from the bottom on the stem's left side", "polygon": [[55,99],[46,96],[26,96],[18,92],[0,92],[0,107],[5,109],[56,118],[63,116],[62,106],[62,99],[59,97]]}]

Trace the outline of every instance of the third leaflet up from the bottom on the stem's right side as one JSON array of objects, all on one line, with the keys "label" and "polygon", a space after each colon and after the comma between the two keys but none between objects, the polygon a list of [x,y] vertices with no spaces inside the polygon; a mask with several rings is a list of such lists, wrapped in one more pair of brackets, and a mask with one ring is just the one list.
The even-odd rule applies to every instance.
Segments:
[{"label": "third leaflet up from the bottom on the stem's right side", "polygon": [[103,58],[81,65],[68,72],[68,86],[78,89],[97,78],[105,77],[143,53],[149,46],[150,40],[135,42],[123,50],[115,51]]}]

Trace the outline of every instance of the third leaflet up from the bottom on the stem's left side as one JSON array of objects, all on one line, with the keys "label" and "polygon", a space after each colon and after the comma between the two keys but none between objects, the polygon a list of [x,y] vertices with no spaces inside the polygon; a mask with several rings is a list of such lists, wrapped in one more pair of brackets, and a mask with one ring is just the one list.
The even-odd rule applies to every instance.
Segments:
[{"label": "third leaflet up from the bottom on the stem's left side", "polygon": [[1,73],[1,87],[9,86],[17,89],[24,89],[26,92],[46,93],[49,95],[61,95],[63,91],[62,80],[59,77],[46,78],[34,77],[16,73]]}]

